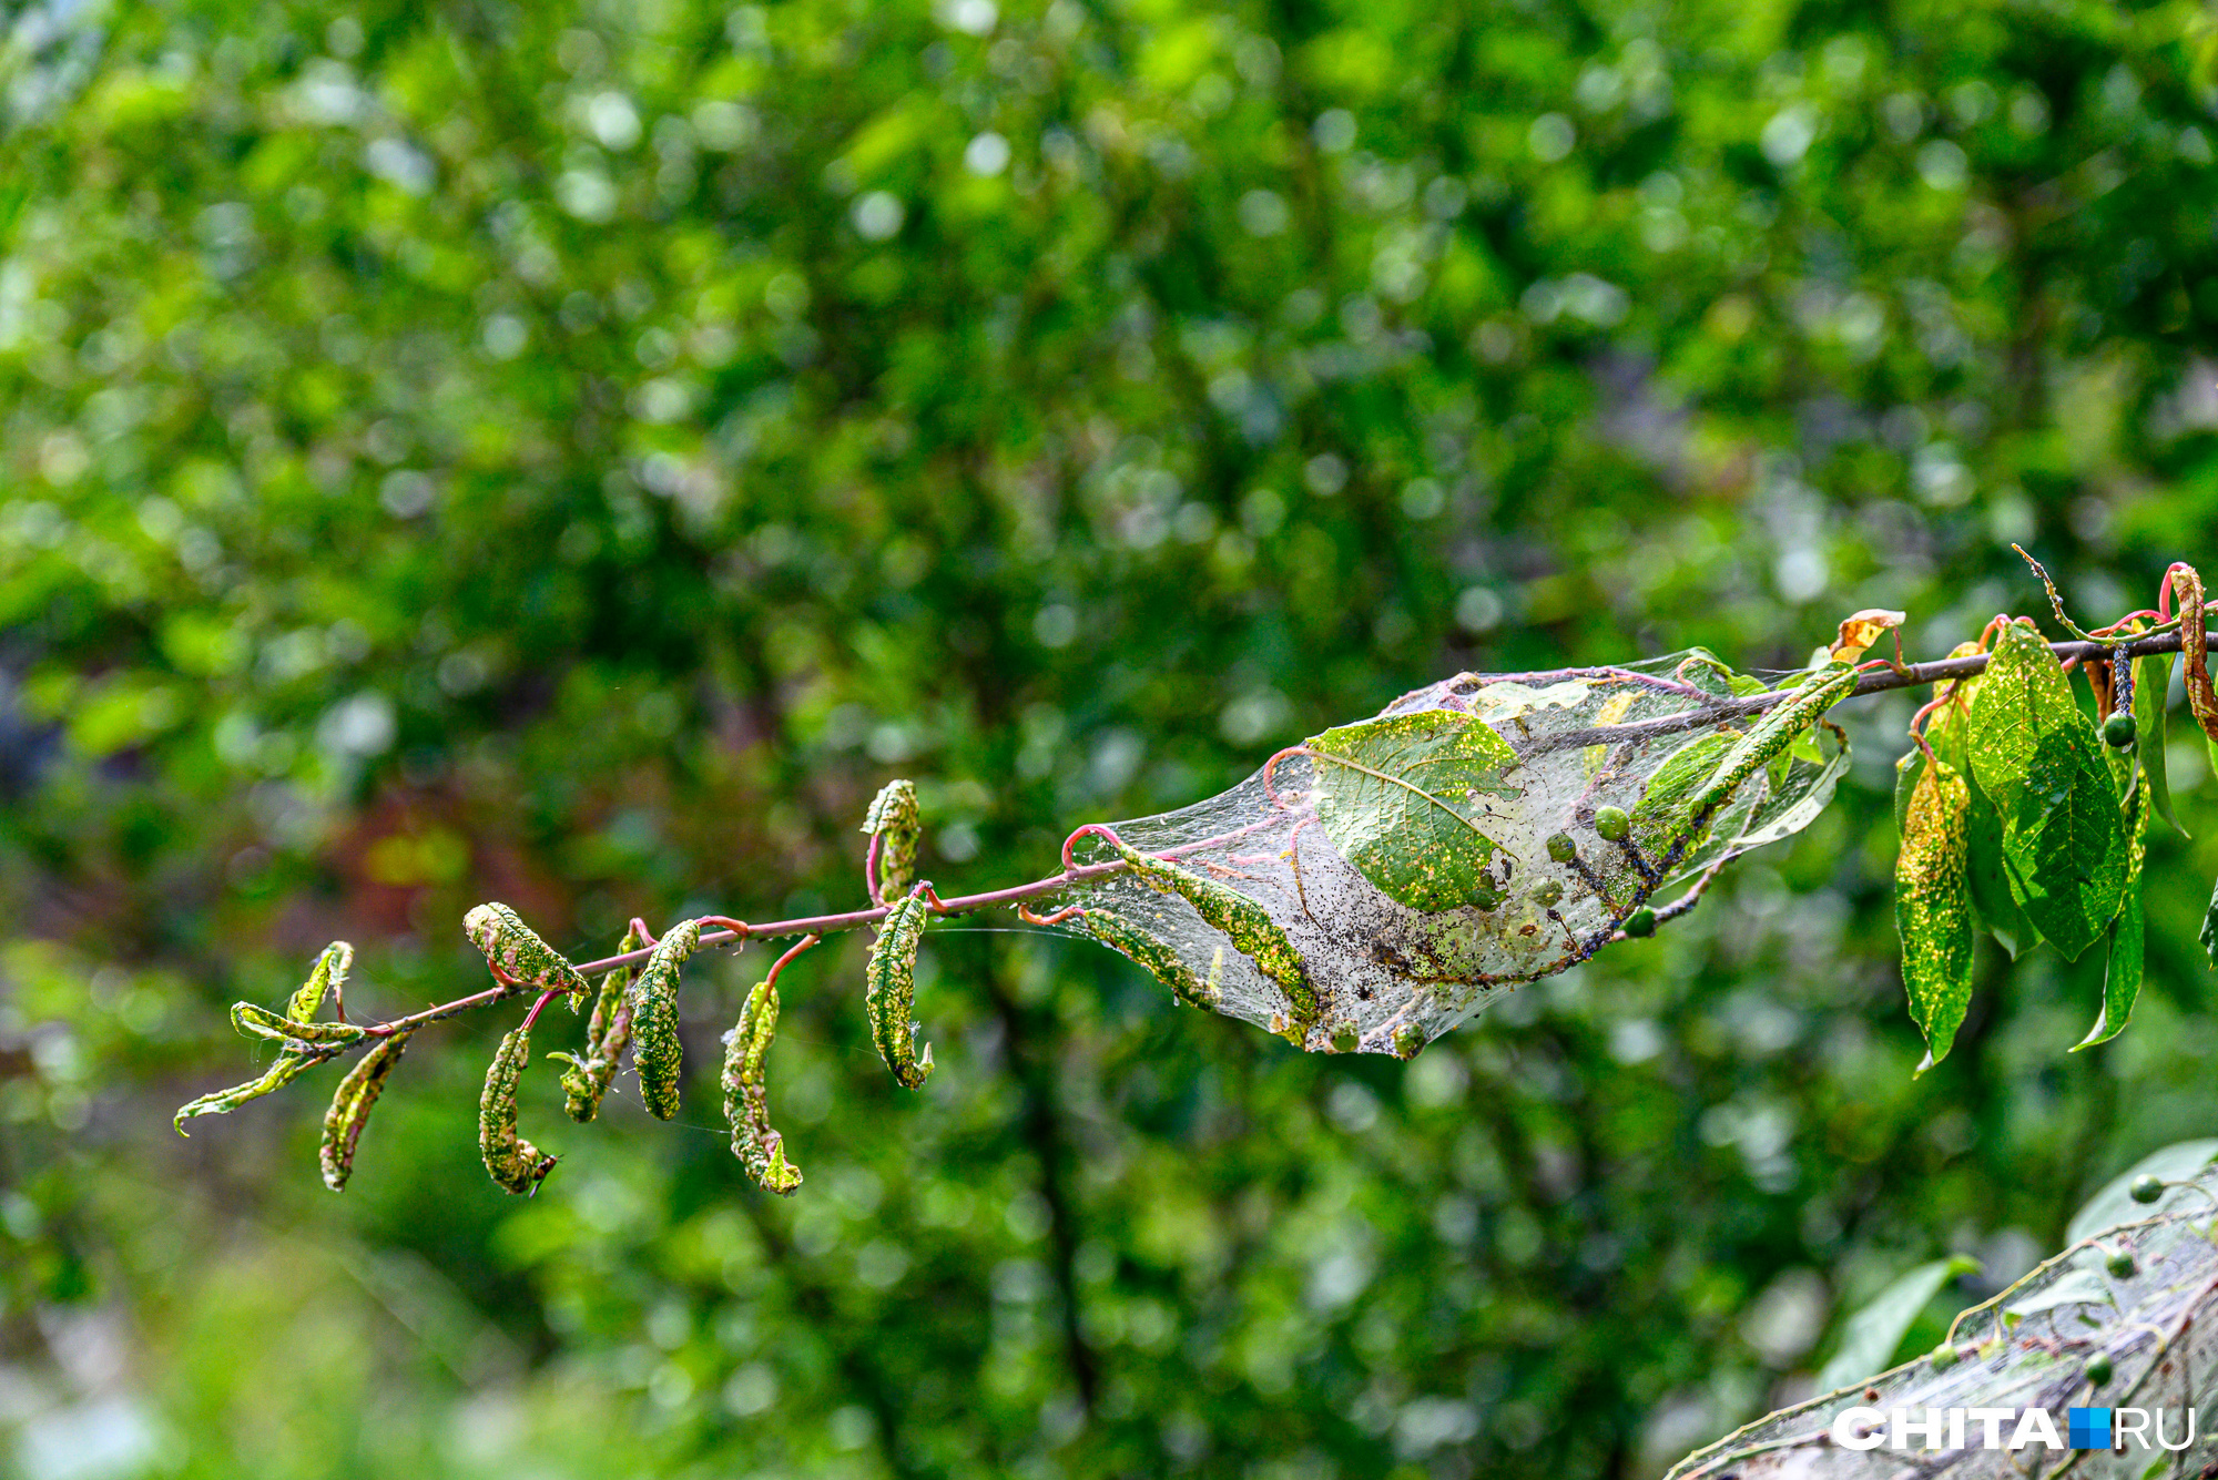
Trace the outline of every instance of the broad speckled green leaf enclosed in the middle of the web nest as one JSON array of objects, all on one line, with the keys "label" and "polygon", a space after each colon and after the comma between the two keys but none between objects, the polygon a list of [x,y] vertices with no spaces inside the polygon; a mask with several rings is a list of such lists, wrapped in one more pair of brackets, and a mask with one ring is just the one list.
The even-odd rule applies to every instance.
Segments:
[{"label": "broad speckled green leaf enclosed in the middle of the web nest", "polygon": [[1486,800],[1515,798],[1508,740],[1448,709],[1342,724],[1309,740],[1317,824],[1366,880],[1413,911],[1490,897]]}]

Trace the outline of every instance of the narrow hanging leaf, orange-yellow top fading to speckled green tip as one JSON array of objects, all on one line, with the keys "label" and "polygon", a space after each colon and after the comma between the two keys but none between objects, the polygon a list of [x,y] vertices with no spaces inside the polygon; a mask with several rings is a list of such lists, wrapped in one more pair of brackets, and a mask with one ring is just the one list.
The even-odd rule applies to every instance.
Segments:
[{"label": "narrow hanging leaf, orange-yellow top fading to speckled green tip", "polygon": [[1903,993],[1925,1035],[1919,1072],[1947,1057],[1972,1001],[1970,811],[1970,791],[1954,767],[1941,760],[1919,771],[1894,860]]}]

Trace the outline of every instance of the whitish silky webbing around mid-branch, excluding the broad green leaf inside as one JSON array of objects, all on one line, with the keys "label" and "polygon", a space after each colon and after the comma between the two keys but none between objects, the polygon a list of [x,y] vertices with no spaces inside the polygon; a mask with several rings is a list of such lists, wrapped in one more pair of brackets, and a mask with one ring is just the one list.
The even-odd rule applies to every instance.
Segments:
[{"label": "whitish silky webbing around mid-branch, excluding the broad green leaf inside", "polygon": [[[1499,793],[1482,798],[1495,844],[1475,904],[1417,911],[1377,888],[1317,820],[1320,762],[1293,747],[1207,802],[1113,824],[1133,849],[1207,873],[1269,911],[1300,953],[1320,1013],[1306,1048],[1411,1052],[1484,1008],[1495,993],[1575,966],[1659,888],[1808,826],[1845,767],[1839,731],[1817,727],[1750,775],[1695,833],[1670,831],[1668,809],[1641,811],[1650,782],[1688,747],[1679,771],[1708,771],[1757,713],[1734,705],[1766,691],[1690,649],[1608,669],[1459,674],[1402,696],[1380,718],[1455,711],[1515,751]],[[1333,731],[1340,733],[1340,731]],[[1604,840],[1599,809],[1624,809],[1635,835]],[[1568,862],[1550,837],[1568,837]],[[1559,851],[1561,842],[1557,844]],[[1111,862],[1082,837],[1074,860]],[[1151,935],[1213,990],[1211,1006],[1273,1032],[1298,1015],[1282,986],[1202,922],[1187,900],[1129,873],[1074,886],[1067,900]],[[1062,928],[1087,933],[1071,917]],[[1295,1028],[1300,1032],[1300,1028]]]}]

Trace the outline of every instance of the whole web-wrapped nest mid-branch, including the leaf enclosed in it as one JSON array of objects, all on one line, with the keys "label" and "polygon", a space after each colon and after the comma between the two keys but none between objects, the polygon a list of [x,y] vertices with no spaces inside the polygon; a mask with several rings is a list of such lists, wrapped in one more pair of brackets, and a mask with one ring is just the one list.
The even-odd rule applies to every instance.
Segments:
[{"label": "whole web-wrapped nest mid-branch, including the leaf enclosed in it", "polygon": [[[1187,973],[1184,986],[1171,981],[1182,999],[1302,1048],[1406,1057],[1515,984],[1584,962],[1659,891],[1823,811],[1848,764],[1845,738],[1830,724],[1805,729],[1701,829],[1672,831],[1670,798],[1688,778],[1708,778],[1761,713],[1734,700],[1768,689],[1703,649],[1624,667],[1459,674],[1280,751],[1222,795],[1107,829],[1260,906],[1300,957],[1313,1010],[1191,900],[1131,871],[1076,884],[1065,900],[1082,915],[1060,928],[1093,939],[1105,924],[1138,933],[1176,964],[1118,948],[1167,981]],[[1411,802],[1377,767],[1362,769],[1413,733],[1462,747],[1462,764],[1415,760],[1406,773],[1453,782],[1444,789],[1464,818]],[[1612,806],[1630,815],[1628,837],[1595,831]],[[1561,842],[1553,855],[1550,840],[1570,840],[1573,857],[1561,857]],[[1085,835],[1071,860],[1105,864],[1118,853]]]}]

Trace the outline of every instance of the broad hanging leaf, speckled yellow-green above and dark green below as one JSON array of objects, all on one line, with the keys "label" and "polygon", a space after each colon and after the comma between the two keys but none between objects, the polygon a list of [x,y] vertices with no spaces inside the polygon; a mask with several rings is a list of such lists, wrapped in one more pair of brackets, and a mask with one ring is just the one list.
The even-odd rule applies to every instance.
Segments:
[{"label": "broad hanging leaf, speckled yellow-green above and dark green below", "polygon": [[2012,893],[2067,962],[2125,897],[2125,829],[2100,751],[2056,654],[2007,623],[1972,700],[1972,775],[2001,815]]}]

